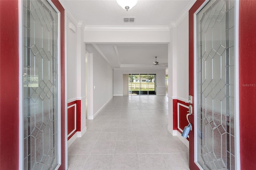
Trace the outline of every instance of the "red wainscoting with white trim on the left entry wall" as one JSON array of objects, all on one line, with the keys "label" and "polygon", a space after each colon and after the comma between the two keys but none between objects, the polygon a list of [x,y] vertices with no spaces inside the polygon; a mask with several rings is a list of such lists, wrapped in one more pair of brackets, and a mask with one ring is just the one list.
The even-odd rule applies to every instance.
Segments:
[{"label": "red wainscoting with white trim on the left entry wall", "polygon": [[[81,101],[68,103],[68,140],[81,131]],[[71,134],[70,134],[71,133]]]}]

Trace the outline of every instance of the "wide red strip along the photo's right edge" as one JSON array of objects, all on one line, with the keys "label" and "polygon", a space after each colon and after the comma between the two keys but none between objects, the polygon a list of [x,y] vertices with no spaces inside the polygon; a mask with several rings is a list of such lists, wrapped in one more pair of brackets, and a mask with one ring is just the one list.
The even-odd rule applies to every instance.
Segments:
[{"label": "wide red strip along the photo's right edge", "polygon": [[241,170],[255,170],[256,1],[239,3],[240,163]]}]

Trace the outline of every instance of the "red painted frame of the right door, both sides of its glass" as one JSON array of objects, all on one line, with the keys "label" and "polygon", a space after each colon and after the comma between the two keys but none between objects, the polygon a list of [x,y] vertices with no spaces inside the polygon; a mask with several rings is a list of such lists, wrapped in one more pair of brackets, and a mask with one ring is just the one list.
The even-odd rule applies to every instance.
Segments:
[{"label": "red painted frame of the right door, both sides of its glass", "polygon": [[[194,96],[194,12],[203,4],[197,0],[189,10],[189,95]],[[239,1],[239,137],[240,169],[256,167],[255,103],[256,103],[256,1]],[[193,106],[194,107],[194,106]],[[189,117],[194,124],[194,114]],[[197,170],[194,163],[194,129],[190,132],[190,169]]]}]

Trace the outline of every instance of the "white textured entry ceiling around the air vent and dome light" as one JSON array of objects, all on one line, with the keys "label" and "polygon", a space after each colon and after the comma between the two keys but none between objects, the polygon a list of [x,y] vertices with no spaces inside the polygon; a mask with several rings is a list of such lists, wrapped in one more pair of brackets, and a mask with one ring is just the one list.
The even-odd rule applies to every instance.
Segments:
[{"label": "white textured entry ceiling around the air vent and dome light", "polygon": [[[62,0],[78,21],[103,26],[168,26],[175,22],[191,0],[138,0],[126,11],[116,0]],[[164,16],[164,17],[163,17]],[[136,17],[135,23],[123,23],[122,17]]]}]

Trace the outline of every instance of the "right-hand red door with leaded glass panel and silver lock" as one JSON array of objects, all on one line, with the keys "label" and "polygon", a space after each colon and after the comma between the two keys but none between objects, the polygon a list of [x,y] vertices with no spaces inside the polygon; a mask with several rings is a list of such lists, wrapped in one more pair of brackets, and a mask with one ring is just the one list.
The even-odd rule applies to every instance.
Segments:
[{"label": "right-hand red door with leaded glass panel and silver lock", "polygon": [[256,1],[234,2],[197,0],[189,11],[192,170],[256,167]]}]

